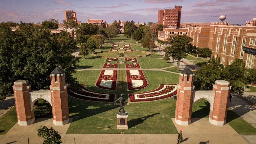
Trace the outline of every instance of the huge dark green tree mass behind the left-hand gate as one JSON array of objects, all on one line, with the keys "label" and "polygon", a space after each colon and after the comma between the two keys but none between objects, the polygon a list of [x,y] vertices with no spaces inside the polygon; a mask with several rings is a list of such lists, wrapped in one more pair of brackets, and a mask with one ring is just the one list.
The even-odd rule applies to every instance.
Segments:
[{"label": "huge dark green tree mass behind the left-hand gate", "polygon": [[0,98],[11,95],[11,85],[19,79],[27,79],[34,90],[49,89],[49,75],[56,66],[65,72],[68,91],[79,89],[79,83],[72,76],[78,59],[71,55],[69,48],[74,43],[66,33],[52,36],[49,30],[39,30],[22,22],[19,30],[1,29]]}]

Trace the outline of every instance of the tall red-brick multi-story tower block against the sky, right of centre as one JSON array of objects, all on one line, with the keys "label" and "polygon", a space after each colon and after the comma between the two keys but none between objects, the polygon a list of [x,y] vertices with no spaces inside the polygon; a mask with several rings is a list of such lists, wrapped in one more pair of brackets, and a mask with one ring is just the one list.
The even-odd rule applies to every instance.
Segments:
[{"label": "tall red-brick multi-story tower block against the sky, right of centre", "polygon": [[177,28],[181,23],[181,6],[175,6],[173,9],[158,10],[158,24]]}]

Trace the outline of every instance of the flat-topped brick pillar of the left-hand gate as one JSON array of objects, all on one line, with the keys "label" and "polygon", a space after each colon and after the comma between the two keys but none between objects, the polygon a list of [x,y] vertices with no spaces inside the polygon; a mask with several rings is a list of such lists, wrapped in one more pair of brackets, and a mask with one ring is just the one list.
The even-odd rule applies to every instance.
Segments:
[{"label": "flat-topped brick pillar of the left-hand gate", "polygon": [[16,113],[18,124],[27,126],[35,121],[34,108],[31,106],[31,98],[29,92],[31,85],[27,80],[18,80],[12,86],[14,91],[14,99],[16,105]]}]

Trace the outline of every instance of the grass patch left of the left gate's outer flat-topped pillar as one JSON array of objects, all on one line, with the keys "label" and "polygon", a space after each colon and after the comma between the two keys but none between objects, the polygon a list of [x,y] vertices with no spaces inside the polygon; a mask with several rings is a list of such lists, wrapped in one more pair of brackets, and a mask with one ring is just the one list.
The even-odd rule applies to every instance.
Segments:
[{"label": "grass patch left of the left gate's outer flat-topped pillar", "polygon": [[17,122],[16,108],[14,106],[0,118],[0,135],[7,133]]}]

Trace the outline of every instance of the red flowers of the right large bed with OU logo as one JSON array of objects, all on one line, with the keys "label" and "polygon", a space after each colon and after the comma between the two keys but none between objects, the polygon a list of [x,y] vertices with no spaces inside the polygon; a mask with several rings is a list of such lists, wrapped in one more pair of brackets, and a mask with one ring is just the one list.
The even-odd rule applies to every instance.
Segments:
[{"label": "red flowers of the right large bed with OU logo", "polygon": [[[148,86],[148,82],[147,82],[142,70],[137,70],[137,71],[139,71],[140,75],[130,75],[130,70],[126,70],[126,79],[127,79],[127,85],[128,85],[129,90],[145,88],[146,86]],[[132,85],[132,80],[142,80],[143,85],[140,87],[134,88]]]}]

